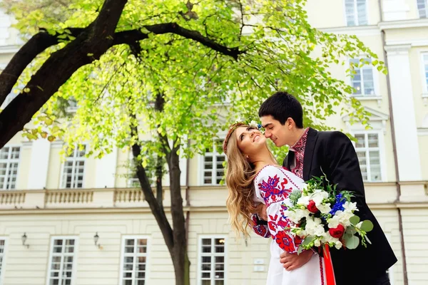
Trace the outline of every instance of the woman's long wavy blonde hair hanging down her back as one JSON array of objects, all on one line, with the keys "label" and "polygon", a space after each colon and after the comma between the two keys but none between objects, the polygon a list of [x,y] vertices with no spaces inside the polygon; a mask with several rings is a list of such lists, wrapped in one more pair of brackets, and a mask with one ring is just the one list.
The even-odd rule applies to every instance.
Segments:
[{"label": "woman's long wavy blonde hair hanging down her back", "polygon": [[[240,125],[239,127],[248,127],[248,125]],[[225,153],[228,156],[228,163],[225,167],[225,182],[229,190],[226,207],[229,212],[230,224],[237,237],[240,236],[240,233],[248,237],[250,235],[248,225],[253,224],[251,214],[259,212],[263,204],[255,205],[253,201],[255,191],[253,180],[257,173],[254,165],[245,159],[238,148],[238,140],[233,135],[234,132],[235,130],[232,130],[226,142],[227,146],[225,146],[227,150]],[[271,152],[270,155],[276,161]]]}]

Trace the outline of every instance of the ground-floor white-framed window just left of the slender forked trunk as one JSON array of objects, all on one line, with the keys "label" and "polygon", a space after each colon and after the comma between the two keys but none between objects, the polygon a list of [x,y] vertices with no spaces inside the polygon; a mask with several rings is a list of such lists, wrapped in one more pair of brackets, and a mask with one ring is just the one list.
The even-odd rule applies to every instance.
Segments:
[{"label": "ground-floor white-framed window just left of the slender forked trunk", "polygon": [[125,238],[121,261],[121,285],[144,285],[147,278],[146,238]]}]

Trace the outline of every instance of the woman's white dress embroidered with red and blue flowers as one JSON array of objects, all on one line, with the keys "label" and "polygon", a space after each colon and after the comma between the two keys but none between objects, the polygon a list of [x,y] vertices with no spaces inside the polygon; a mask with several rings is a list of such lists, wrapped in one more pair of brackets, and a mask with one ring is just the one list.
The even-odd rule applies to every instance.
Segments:
[{"label": "woman's white dress embroidered with red and blue flowers", "polygon": [[285,227],[290,224],[284,217],[293,190],[302,190],[303,180],[292,172],[275,165],[265,166],[255,177],[255,201],[267,206],[267,225],[257,224],[253,216],[254,231],[262,237],[272,237],[267,285],[323,285],[323,259],[313,254],[310,261],[299,269],[287,271],[280,263],[282,252],[296,253],[302,242],[289,234]]}]

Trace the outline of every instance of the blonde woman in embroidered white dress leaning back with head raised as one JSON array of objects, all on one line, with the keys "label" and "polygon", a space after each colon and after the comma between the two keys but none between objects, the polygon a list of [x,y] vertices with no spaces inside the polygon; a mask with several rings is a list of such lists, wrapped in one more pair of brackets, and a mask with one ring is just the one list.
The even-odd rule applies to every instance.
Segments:
[{"label": "blonde woman in embroidered white dress leaning back with head raised", "polygon": [[[232,227],[248,236],[248,225],[253,224],[256,234],[274,239],[270,244],[267,285],[325,284],[322,258],[318,254],[292,271],[285,270],[280,263],[282,252],[297,253],[302,242],[285,229],[291,222],[282,213],[289,203],[290,192],[301,190],[303,180],[277,165],[265,136],[250,125],[231,125],[223,150],[228,157],[227,207]],[[252,214],[263,204],[267,206],[267,225],[258,224],[257,215]]]}]

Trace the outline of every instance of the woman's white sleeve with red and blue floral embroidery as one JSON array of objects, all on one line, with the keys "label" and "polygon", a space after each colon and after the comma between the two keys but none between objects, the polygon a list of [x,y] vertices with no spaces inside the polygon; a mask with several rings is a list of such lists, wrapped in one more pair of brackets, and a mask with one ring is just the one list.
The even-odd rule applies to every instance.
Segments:
[{"label": "woman's white sleeve with red and blue floral embroidery", "polygon": [[285,252],[295,253],[302,242],[299,237],[294,237],[285,227],[290,227],[291,222],[284,216],[287,209],[287,198],[292,190],[300,190],[299,177],[291,172],[281,170],[273,165],[268,165],[261,170],[255,178],[255,190],[265,200],[267,206],[267,228],[272,239]]}]

